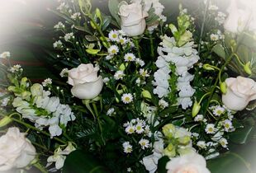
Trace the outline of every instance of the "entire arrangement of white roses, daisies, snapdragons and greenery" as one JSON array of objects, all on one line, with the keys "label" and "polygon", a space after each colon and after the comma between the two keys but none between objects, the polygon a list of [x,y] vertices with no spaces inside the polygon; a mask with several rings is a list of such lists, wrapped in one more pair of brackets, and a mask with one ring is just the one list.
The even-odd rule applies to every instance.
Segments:
[{"label": "entire arrangement of white roses, daisies, snapdragons and greenery", "polygon": [[109,15],[89,0],[59,3],[59,82],[33,83],[0,55],[0,171],[208,173],[230,142],[249,136],[249,3],[231,0],[221,12],[206,0],[199,29],[182,5],[169,22],[159,0],[109,0]]}]

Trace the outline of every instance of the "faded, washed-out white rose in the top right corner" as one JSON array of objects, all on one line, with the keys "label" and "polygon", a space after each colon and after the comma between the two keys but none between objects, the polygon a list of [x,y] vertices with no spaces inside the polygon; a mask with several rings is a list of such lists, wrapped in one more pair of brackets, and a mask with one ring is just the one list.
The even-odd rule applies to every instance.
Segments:
[{"label": "faded, washed-out white rose in the top right corner", "polygon": [[225,20],[225,30],[233,33],[244,30],[250,17],[249,9],[239,9],[237,1],[231,0],[227,12],[229,12],[229,16]]}]

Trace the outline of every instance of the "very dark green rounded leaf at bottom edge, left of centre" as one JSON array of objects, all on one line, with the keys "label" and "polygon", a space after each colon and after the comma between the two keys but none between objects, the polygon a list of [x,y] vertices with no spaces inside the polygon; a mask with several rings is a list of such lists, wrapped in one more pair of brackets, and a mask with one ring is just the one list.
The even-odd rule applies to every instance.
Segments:
[{"label": "very dark green rounded leaf at bottom edge, left of centre", "polygon": [[66,158],[63,167],[64,173],[102,173],[108,172],[107,169],[102,166],[100,161],[97,161],[91,154],[83,152],[82,150],[76,150],[71,152]]}]

